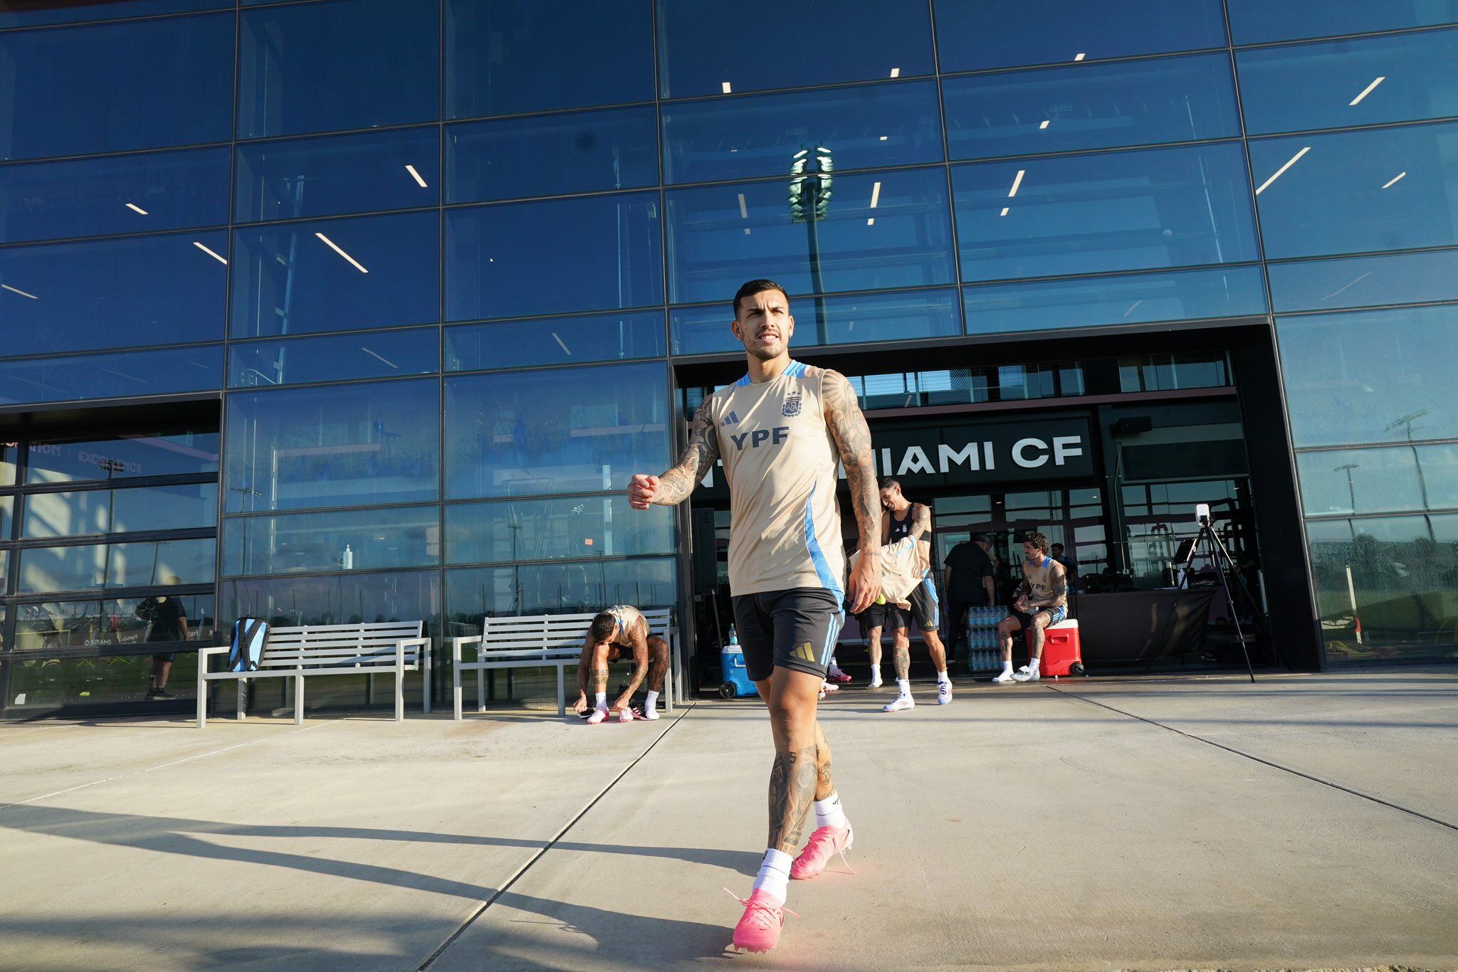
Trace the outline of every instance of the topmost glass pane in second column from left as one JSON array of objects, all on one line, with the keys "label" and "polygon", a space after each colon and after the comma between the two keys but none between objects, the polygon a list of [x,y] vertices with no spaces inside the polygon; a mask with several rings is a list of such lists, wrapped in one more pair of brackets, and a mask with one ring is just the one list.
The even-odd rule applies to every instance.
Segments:
[{"label": "topmost glass pane in second column from left", "polygon": [[238,137],[430,121],[440,112],[433,3],[331,0],[245,10]]}]

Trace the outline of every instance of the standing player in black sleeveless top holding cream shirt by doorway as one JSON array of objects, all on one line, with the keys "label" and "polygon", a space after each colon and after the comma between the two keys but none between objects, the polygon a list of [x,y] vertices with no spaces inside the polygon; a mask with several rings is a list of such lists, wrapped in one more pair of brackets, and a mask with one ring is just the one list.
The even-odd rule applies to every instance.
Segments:
[{"label": "standing player in black sleeveless top holding cream shirt by doorway", "polygon": [[886,509],[881,516],[881,542],[895,544],[904,536],[911,536],[927,563],[921,583],[907,597],[910,612],[894,606],[885,612],[885,624],[891,628],[892,638],[891,657],[897,666],[897,697],[882,707],[882,711],[900,713],[916,707],[911,698],[911,638],[907,634],[907,614],[916,621],[921,640],[926,641],[927,654],[932,656],[932,665],[936,666],[936,704],[946,705],[952,701],[952,679],[946,673],[946,647],[937,634],[942,605],[936,597],[936,581],[930,570],[932,510],[924,503],[907,500],[901,494],[901,484],[891,477],[881,481],[881,506]]}]

